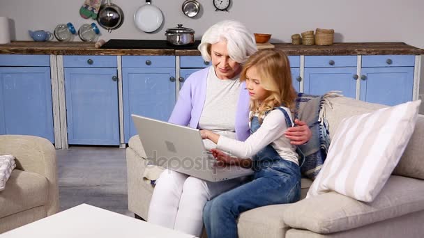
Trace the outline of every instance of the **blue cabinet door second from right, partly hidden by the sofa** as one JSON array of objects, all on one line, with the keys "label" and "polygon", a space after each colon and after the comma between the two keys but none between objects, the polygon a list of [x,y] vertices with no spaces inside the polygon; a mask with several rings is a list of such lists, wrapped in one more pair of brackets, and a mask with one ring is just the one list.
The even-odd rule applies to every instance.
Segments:
[{"label": "blue cabinet door second from right, partly hidden by the sofa", "polygon": [[345,97],[356,97],[356,68],[305,68],[305,93],[323,95],[331,90],[342,91]]}]

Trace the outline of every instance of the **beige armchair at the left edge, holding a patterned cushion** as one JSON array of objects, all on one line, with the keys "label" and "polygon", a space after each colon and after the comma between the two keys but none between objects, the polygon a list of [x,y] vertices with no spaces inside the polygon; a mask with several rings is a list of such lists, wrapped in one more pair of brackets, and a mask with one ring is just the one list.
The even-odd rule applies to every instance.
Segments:
[{"label": "beige armchair at the left edge, holding a patterned cushion", "polygon": [[0,191],[0,233],[59,211],[56,151],[37,136],[0,136],[0,154],[13,154],[16,168]]}]

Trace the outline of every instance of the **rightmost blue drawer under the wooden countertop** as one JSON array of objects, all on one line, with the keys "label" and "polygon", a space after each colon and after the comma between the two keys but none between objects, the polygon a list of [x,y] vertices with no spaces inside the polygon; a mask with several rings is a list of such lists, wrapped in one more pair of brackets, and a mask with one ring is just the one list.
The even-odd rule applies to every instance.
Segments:
[{"label": "rightmost blue drawer under the wooden countertop", "polygon": [[362,67],[414,66],[415,56],[362,56]]}]

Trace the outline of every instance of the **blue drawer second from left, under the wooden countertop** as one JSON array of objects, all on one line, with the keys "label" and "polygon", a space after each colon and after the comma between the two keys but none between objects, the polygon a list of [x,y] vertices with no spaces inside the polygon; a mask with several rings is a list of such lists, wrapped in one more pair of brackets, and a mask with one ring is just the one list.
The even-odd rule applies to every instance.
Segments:
[{"label": "blue drawer second from left, under the wooden countertop", "polygon": [[64,68],[116,68],[116,56],[63,56]]}]

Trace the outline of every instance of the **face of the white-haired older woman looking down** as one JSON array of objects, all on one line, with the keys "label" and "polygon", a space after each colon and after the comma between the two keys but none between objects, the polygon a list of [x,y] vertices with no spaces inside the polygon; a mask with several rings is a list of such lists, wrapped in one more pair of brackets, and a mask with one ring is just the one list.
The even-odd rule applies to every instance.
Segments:
[{"label": "face of the white-haired older woman looking down", "polygon": [[241,65],[229,58],[225,40],[211,45],[211,58],[218,79],[232,79],[241,72]]}]

